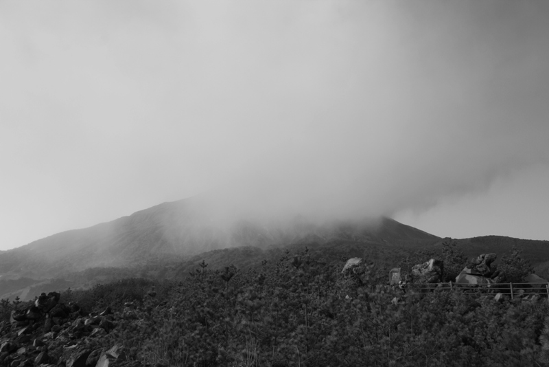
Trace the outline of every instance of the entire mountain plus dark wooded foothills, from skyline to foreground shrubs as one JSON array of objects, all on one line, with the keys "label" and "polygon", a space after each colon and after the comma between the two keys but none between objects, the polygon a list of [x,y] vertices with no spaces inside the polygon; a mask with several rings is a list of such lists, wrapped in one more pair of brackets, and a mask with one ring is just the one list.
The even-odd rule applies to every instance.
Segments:
[{"label": "entire mountain plus dark wooded foothills, from skyline to foreground shrubs", "polygon": [[[257,267],[305,247],[318,260],[358,256],[393,267],[417,249],[437,249],[446,240],[386,217],[221,226],[209,221],[194,199],[185,199],[0,252],[0,297],[32,298],[41,291],[129,277],[183,278],[202,260],[209,269]],[[549,275],[549,241],[483,236],[457,242],[469,258],[487,252],[501,258],[516,245],[537,274]]]}]

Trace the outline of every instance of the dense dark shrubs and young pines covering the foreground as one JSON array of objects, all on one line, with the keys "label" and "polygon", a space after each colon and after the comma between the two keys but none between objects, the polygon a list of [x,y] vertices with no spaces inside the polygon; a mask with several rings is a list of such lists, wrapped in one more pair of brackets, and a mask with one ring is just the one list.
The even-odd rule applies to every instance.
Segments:
[{"label": "dense dark shrubs and young pines covering the foreground", "polygon": [[[463,254],[443,247],[449,267]],[[82,306],[137,300],[137,320],[117,318],[99,343],[124,344],[130,359],[170,366],[535,366],[546,365],[547,302],[493,295],[403,293],[341,273],[307,249],[274,264],[198,271],[175,284],[128,279],[72,291]],[[156,287],[156,296],[147,291]],[[100,302],[102,300],[102,302]]]}]

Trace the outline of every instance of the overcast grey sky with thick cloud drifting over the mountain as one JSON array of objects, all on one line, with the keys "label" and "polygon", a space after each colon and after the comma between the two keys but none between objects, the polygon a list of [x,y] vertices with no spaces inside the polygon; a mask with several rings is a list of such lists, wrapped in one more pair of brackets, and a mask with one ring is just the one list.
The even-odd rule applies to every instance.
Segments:
[{"label": "overcast grey sky with thick cloud drifting over the mountain", "polygon": [[0,249],[203,192],[549,240],[548,19],[544,0],[1,1]]}]

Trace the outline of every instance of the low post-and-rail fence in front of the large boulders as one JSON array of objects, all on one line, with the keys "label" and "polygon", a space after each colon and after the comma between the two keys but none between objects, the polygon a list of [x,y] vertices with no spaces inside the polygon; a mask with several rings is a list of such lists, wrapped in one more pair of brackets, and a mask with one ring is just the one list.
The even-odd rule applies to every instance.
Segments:
[{"label": "low post-and-rail fence in front of the large boulders", "polygon": [[511,299],[517,296],[542,296],[549,298],[549,282],[543,283],[492,283],[492,284],[468,284],[468,283],[431,283],[431,284],[405,284],[402,289],[412,291],[434,291],[435,289],[461,290],[461,291],[480,291],[487,293],[487,296],[495,293],[504,293],[511,296]]}]

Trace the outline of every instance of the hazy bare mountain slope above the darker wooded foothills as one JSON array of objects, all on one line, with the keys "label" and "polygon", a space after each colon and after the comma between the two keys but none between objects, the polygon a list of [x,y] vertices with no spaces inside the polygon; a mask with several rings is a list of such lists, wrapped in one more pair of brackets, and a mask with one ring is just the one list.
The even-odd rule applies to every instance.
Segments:
[{"label": "hazy bare mountain slope above the darker wooded foothills", "polygon": [[267,248],[333,241],[382,245],[430,244],[433,236],[393,219],[314,224],[209,220],[194,199],[162,203],[93,227],[54,234],[0,254],[3,279],[53,278],[92,267],[128,267],[155,258],[194,256],[236,246]]}]

